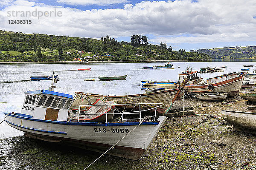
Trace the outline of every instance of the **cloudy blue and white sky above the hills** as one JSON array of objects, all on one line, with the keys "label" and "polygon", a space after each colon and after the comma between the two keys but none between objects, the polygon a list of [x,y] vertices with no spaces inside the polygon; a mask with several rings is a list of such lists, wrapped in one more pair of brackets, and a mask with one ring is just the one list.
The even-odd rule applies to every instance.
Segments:
[{"label": "cloudy blue and white sky above the hills", "polygon": [[256,0],[1,0],[0,29],[119,42],[145,35],[186,51],[248,46],[256,45]]}]

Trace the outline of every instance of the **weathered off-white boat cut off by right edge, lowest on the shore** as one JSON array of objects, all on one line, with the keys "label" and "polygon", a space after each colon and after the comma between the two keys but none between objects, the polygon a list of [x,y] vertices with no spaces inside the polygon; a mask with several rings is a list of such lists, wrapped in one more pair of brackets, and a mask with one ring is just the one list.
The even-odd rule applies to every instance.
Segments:
[{"label": "weathered off-white boat cut off by right edge, lowest on the shore", "polygon": [[224,120],[239,132],[256,134],[256,113],[241,111],[221,111]]}]

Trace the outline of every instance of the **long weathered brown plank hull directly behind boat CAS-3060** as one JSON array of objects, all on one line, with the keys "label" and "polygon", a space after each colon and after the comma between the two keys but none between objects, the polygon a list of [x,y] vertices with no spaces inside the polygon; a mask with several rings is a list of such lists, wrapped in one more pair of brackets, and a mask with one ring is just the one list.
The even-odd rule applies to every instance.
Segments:
[{"label": "long weathered brown plank hull directly behind boat CAS-3060", "polygon": [[[163,103],[162,106],[157,108],[158,113],[163,113],[169,103],[172,101],[172,98],[175,96],[179,89],[160,91],[155,93],[148,94],[133,94],[133,95],[123,95],[123,96],[114,96],[114,95],[100,95],[100,94],[90,94],[84,92],[75,92],[76,100],[85,96],[87,98],[97,98],[102,99],[102,101],[113,101],[116,104],[125,104],[125,103]],[[80,99],[81,100],[81,99]],[[151,107],[152,105],[144,105],[145,107]],[[128,106],[125,106],[128,107]],[[134,106],[133,106],[134,107]]]}]

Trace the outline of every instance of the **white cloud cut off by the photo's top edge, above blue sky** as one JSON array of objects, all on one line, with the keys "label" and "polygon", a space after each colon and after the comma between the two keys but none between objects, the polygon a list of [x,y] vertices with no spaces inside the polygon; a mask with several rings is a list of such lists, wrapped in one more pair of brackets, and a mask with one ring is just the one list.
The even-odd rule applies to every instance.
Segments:
[{"label": "white cloud cut off by the photo's top edge, above blue sky", "polygon": [[107,6],[113,4],[126,3],[127,0],[57,0],[58,3],[65,3],[68,5],[99,5],[99,6]]}]

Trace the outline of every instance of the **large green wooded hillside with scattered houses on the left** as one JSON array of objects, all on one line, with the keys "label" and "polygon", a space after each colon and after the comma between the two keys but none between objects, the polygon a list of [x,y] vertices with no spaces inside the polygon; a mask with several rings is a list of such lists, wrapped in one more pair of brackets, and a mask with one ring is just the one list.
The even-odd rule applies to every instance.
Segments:
[{"label": "large green wooded hillside with scattered houses on the left", "polygon": [[131,43],[117,42],[108,36],[96,40],[0,30],[0,62],[73,61],[74,58],[83,60],[84,57],[93,61],[210,59],[204,53],[186,52],[182,49],[172,51],[165,43],[148,45],[145,36],[132,37],[142,38],[141,41],[133,39]]}]

